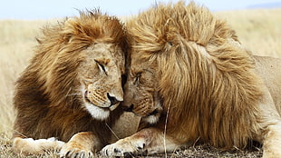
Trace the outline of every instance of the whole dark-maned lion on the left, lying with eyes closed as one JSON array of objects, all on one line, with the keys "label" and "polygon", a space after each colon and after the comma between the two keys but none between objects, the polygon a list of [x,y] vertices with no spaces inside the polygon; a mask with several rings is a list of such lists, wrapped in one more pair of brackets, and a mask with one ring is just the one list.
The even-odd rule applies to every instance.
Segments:
[{"label": "whole dark-maned lion on the left, lying with eyes closed", "polygon": [[123,24],[99,10],[81,11],[46,26],[38,42],[15,86],[15,152],[92,156],[111,143],[111,127],[123,114]]}]

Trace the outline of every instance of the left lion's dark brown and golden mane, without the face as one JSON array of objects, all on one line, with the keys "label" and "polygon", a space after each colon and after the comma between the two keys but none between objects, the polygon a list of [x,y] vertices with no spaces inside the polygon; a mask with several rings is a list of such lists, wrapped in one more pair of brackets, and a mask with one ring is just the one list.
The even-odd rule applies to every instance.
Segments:
[{"label": "left lion's dark brown and golden mane, without the face", "polygon": [[98,10],[81,12],[80,17],[46,26],[38,43],[31,64],[16,82],[14,137],[57,137],[67,142],[74,133],[92,131],[106,143],[110,131],[105,124],[114,123],[121,109],[105,121],[93,119],[82,109],[81,96],[75,95],[80,84],[76,75],[82,62],[79,52],[90,44],[111,43],[124,49],[119,20]]}]

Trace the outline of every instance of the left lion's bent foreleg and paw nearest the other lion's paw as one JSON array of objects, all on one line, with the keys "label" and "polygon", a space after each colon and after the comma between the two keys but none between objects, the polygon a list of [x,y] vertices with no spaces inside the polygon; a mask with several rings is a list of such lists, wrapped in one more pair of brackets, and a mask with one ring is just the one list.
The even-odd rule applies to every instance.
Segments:
[{"label": "left lion's bent foreleg and paw nearest the other lion's paw", "polygon": [[60,157],[93,157],[101,148],[100,140],[92,132],[76,133],[63,145]]}]

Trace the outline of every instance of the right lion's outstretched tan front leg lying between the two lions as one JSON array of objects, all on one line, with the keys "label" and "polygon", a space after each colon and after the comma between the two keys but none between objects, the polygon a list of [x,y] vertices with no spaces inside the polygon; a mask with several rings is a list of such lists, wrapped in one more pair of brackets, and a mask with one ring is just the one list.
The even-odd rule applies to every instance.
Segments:
[{"label": "right lion's outstretched tan front leg lying between the two lions", "polygon": [[177,144],[170,136],[156,128],[146,128],[138,133],[109,144],[102,149],[105,156],[128,156],[174,151]]}]

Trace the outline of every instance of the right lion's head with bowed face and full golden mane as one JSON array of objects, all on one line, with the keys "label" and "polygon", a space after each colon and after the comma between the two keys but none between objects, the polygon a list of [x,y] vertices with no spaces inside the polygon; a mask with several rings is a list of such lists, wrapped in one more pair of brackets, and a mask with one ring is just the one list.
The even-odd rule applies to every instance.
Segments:
[{"label": "right lion's head with bowed face and full golden mane", "polygon": [[[235,32],[207,8],[183,2],[157,5],[126,26],[131,45],[124,90],[127,110],[149,123],[169,114],[167,129],[176,132],[184,126],[181,133],[189,133],[189,140],[215,141],[218,131],[241,133],[239,128],[231,133],[229,126],[253,124],[250,115],[257,113],[261,96],[254,61]],[[247,111],[247,119],[232,117],[241,111]],[[231,136],[223,139],[228,140],[214,143],[234,141]],[[236,139],[247,142],[246,137]]]}]

